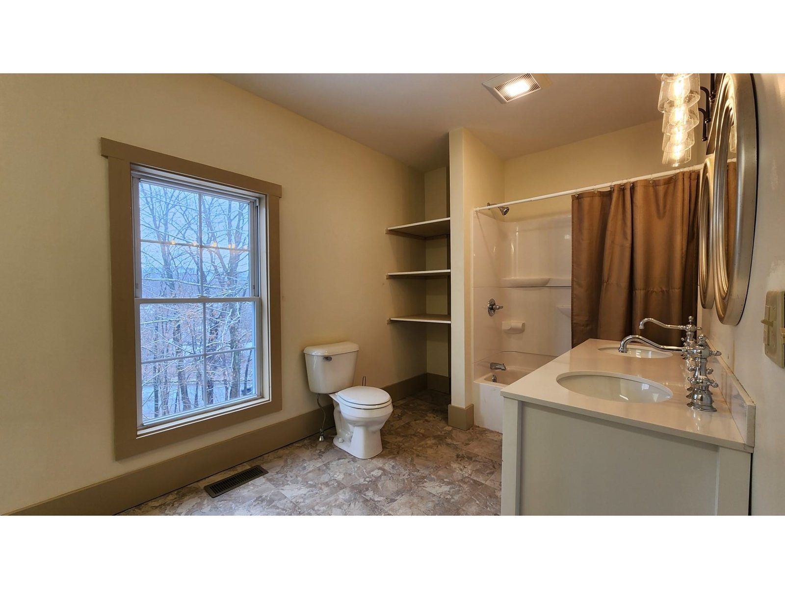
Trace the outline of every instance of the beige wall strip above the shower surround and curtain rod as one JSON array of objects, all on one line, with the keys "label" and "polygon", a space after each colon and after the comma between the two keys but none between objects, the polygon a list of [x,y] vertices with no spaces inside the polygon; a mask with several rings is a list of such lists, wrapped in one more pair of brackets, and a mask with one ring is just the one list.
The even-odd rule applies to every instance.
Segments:
[{"label": "beige wall strip above the shower surround and curtain rod", "polygon": [[[655,107],[653,115],[657,115]],[[626,178],[666,172],[662,151],[662,119],[631,126],[544,152],[508,159],[504,163],[504,200],[528,199],[571,188],[583,188]],[[696,129],[699,134],[700,129]],[[696,137],[692,161],[703,163],[705,148]],[[510,207],[505,221],[569,212],[571,196],[557,196]],[[501,218],[498,211],[494,218]]]}]

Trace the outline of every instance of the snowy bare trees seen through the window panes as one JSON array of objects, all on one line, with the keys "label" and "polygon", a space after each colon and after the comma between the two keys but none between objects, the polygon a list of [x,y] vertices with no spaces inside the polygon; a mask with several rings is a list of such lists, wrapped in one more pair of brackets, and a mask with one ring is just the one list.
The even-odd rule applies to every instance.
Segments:
[{"label": "snowy bare trees seen through the window panes", "polygon": [[259,397],[249,199],[138,177],[141,424]]}]

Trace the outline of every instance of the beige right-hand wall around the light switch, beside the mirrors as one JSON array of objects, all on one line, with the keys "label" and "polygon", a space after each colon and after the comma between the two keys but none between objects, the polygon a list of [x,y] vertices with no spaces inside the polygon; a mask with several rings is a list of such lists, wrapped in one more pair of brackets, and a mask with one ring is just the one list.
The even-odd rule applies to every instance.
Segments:
[{"label": "beige right-hand wall around the light switch, beside the mirrors", "polygon": [[766,291],[785,290],[785,75],[755,75],[758,108],[758,211],[747,304],[738,325],[714,309],[700,321],[756,404],[752,513],[785,514],[785,369],[763,351]]}]

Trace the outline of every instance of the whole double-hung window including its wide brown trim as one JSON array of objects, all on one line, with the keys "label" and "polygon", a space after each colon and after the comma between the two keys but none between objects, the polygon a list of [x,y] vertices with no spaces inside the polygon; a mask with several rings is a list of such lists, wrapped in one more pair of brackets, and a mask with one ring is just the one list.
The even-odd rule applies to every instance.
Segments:
[{"label": "whole double-hung window including its wide brown trim", "polygon": [[102,152],[115,455],[279,411],[280,187],[115,141]]}]

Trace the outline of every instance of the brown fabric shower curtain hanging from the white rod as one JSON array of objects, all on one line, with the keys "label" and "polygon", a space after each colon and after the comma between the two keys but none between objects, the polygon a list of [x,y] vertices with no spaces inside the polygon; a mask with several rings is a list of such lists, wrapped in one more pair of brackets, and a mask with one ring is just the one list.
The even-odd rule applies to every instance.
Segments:
[{"label": "brown fabric shower curtain hanging from the white rod", "polygon": [[638,324],[696,316],[697,171],[572,197],[572,346],[641,333],[681,345],[681,331]]}]

